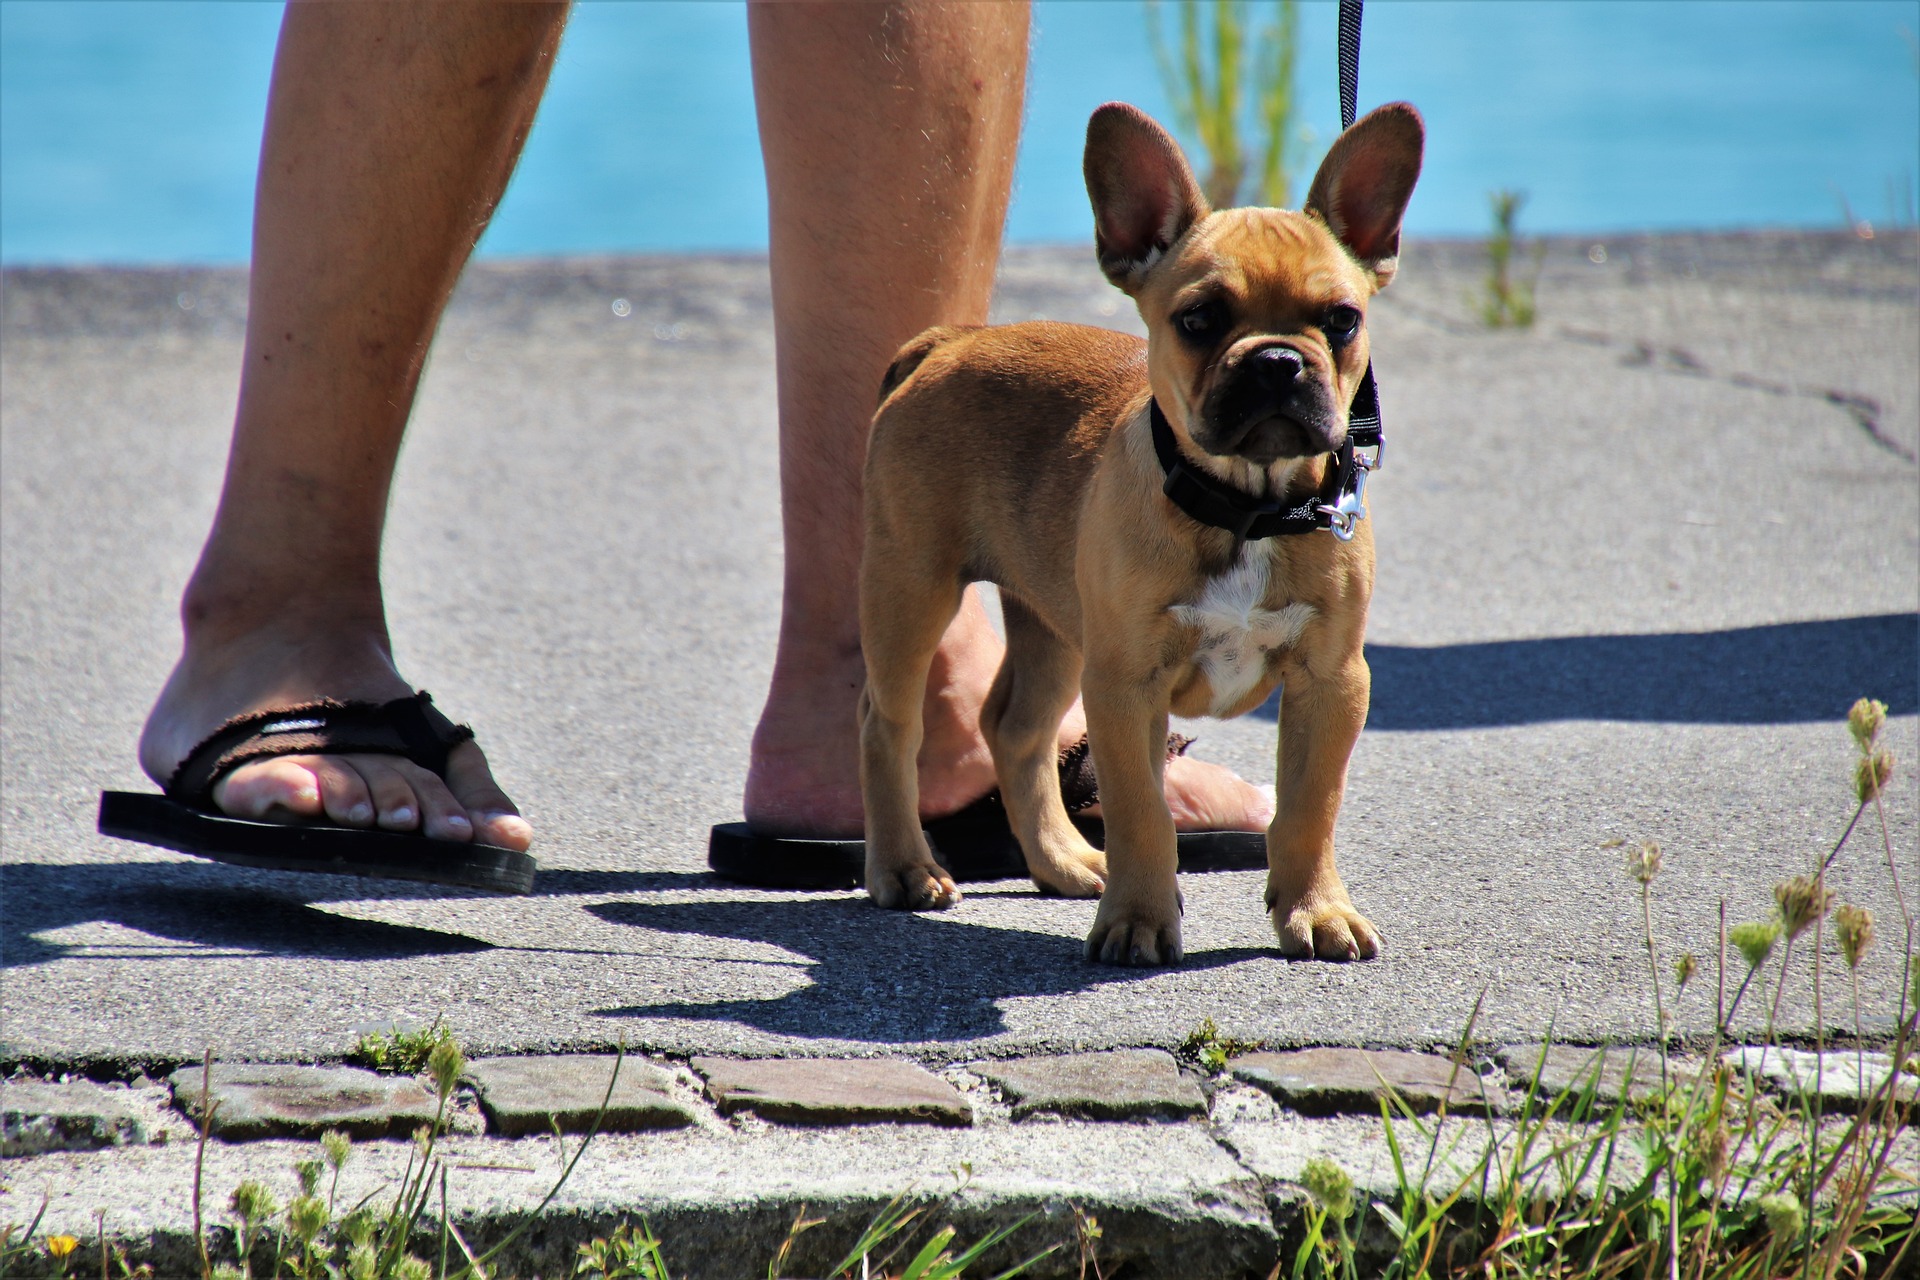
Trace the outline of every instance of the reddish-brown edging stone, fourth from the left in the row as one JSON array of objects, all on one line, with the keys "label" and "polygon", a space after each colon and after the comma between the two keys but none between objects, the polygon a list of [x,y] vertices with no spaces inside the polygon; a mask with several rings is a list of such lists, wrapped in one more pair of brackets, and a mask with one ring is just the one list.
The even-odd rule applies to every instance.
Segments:
[{"label": "reddish-brown edging stone, fourth from the left in the row", "polygon": [[695,1057],[726,1115],[785,1125],[972,1125],[973,1107],[947,1080],[891,1057]]}]

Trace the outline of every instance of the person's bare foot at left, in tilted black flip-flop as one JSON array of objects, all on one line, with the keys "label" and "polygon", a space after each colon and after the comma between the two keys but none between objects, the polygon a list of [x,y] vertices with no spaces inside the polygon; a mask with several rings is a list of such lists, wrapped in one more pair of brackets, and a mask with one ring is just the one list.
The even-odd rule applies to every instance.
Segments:
[{"label": "person's bare foot at left, in tilted black flip-flop", "polygon": [[[388,702],[411,695],[378,626],[204,626],[148,716],[140,768],[165,787],[179,762],[234,716],[321,699]],[[524,850],[534,835],[470,741],[447,756],[445,779],[382,754],[259,760],[215,783],[213,804],[230,818],[422,831],[513,850]]]}]

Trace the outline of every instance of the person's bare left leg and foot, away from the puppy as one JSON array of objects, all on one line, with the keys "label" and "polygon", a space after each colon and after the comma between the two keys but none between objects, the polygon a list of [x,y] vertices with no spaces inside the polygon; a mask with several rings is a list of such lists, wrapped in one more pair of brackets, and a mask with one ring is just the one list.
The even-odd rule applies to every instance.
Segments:
[{"label": "person's bare left leg and foot, away from the puppy", "polygon": [[[140,737],[156,781],[232,716],[411,693],[380,599],[394,462],[564,21],[564,4],[288,6],[227,482],[180,604],[180,662]],[[236,770],[215,802],[509,848],[532,837],[472,743],[445,783],[386,756],[288,756]]]}]

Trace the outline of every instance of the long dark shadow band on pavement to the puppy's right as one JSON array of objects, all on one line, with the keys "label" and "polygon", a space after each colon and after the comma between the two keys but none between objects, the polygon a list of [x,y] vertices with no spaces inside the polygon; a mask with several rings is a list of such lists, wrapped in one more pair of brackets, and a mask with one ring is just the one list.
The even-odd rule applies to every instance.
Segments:
[{"label": "long dark shadow band on pavement to the puppy's right", "polygon": [[[1369,729],[1551,720],[1807,723],[1859,697],[1920,710],[1920,614],[1674,635],[1569,635],[1413,649],[1367,645]],[[1279,695],[1254,716],[1273,720]]]}]

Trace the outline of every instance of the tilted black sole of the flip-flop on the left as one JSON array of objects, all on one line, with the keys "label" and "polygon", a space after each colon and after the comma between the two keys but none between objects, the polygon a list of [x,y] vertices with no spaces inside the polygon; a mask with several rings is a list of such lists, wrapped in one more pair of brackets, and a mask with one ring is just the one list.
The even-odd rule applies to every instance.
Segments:
[{"label": "tilted black sole of the flip-flop on the left", "polygon": [[499,894],[530,892],[538,867],[528,854],[497,844],[432,841],[399,831],[248,821],[136,791],[100,793],[100,835],[238,867],[459,885]]}]

